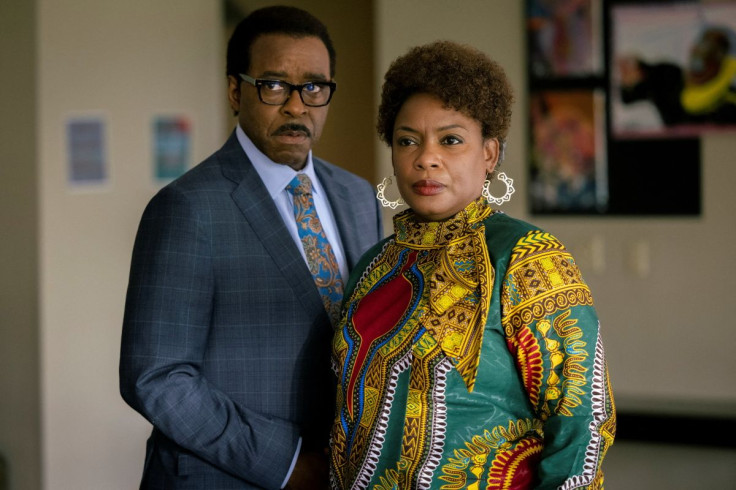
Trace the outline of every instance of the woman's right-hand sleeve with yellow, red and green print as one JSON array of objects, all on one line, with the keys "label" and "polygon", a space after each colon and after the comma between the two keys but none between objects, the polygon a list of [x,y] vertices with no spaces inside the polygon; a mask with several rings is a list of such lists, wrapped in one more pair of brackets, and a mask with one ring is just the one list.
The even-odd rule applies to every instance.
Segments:
[{"label": "woman's right-hand sleeve with yellow, red and green print", "polygon": [[529,232],[504,278],[503,324],[529,401],[544,424],[534,488],[602,488],[615,408],[590,290],[552,235]]}]

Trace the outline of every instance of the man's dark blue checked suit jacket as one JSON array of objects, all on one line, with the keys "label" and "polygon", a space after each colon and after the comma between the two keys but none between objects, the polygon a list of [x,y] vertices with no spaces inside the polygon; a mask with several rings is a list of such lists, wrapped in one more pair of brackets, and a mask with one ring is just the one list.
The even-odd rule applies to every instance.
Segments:
[{"label": "man's dark blue checked suit jacket", "polygon": [[[349,267],[382,235],[371,186],[314,159]],[[153,424],[141,488],[279,488],[298,438],[326,445],[332,331],[233,133],[140,222],[120,391]]]}]

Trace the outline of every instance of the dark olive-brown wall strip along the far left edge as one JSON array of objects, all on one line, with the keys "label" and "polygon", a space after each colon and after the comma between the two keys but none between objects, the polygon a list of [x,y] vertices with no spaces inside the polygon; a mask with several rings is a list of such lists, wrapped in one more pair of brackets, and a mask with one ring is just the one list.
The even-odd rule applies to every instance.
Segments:
[{"label": "dark olive-brown wall strip along the far left edge", "polygon": [[0,2],[0,488],[38,488],[35,5]]}]

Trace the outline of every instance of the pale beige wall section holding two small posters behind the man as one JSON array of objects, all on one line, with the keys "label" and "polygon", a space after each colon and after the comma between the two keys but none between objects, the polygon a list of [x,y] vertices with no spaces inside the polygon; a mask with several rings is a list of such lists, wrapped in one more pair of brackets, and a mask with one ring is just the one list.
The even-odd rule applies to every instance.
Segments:
[{"label": "pale beige wall section holding two small posters behind the man", "polygon": [[[192,160],[223,142],[219,2],[39,0],[43,481],[130,489],[150,428],[118,392],[130,253],[152,178],[152,119],[192,123]],[[65,124],[99,115],[109,184],[71,188]]]}]

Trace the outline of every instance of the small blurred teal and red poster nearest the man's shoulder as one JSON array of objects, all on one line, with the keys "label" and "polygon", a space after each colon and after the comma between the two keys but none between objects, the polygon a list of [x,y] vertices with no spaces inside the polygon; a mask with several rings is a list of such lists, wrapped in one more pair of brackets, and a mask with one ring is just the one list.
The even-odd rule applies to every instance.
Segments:
[{"label": "small blurred teal and red poster nearest the man's shoulder", "polygon": [[191,125],[182,116],[159,116],[153,121],[154,175],[172,180],[189,168]]}]

